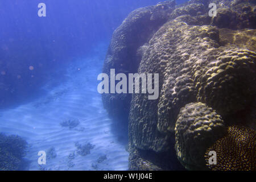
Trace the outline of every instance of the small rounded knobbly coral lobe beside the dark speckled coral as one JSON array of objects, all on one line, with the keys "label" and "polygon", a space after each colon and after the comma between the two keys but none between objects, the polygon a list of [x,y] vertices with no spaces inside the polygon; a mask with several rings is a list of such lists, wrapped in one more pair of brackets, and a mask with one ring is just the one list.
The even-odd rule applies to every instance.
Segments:
[{"label": "small rounded knobbly coral lobe beside the dark speckled coral", "polygon": [[175,126],[175,149],[187,169],[204,169],[204,152],[225,134],[221,116],[207,105],[197,102],[180,109]]}]

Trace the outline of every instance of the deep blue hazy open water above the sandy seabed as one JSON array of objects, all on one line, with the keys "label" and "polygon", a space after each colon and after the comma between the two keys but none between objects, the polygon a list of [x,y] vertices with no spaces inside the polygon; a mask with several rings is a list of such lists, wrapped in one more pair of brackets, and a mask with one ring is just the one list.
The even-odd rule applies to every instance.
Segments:
[{"label": "deep blue hazy open water above the sandy seabed", "polygon": [[[113,31],[132,10],[157,3],[46,0],[46,17],[39,17],[41,2],[0,2],[0,65],[4,75],[0,82],[8,89],[1,92],[3,109],[38,97],[38,93],[40,96],[44,92],[40,88],[48,80],[60,84],[68,63],[89,55],[104,55]],[[102,44],[106,44],[105,49],[97,47]],[[30,65],[33,71],[28,69]]]}]

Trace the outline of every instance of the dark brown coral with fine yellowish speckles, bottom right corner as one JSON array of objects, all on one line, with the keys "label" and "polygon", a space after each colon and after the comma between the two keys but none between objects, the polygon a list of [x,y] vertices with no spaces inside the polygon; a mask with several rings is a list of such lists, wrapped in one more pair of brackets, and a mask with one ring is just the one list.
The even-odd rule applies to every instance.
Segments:
[{"label": "dark brown coral with fine yellowish speckles, bottom right corner", "polygon": [[[212,170],[255,171],[256,133],[243,126],[230,126],[228,134],[205,152],[205,162]],[[216,151],[216,164],[209,164],[209,152]]]}]

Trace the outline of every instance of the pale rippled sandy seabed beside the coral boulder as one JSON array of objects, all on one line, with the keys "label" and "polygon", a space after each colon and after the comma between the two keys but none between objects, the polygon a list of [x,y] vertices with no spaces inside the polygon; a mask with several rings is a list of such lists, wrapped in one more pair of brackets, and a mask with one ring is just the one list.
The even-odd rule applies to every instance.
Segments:
[{"label": "pale rippled sandy seabed beside the coral boulder", "polygon": [[[101,67],[88,66],[97,59],[72,63],[67,68],[67,81],[51,89],[46,85],[46,96],[15,109],[0,110],[0,132],[20,135],[28,142],[28,170],[128,169],[129,153],[118,134],[112,132],[113,121],[97,92]],[[73,128],[60,125],[68,120],[80,123]],[[92,144],[90,154],[81,155],[76,142]],[[46,151],[46,165],[38,164],[39,151]]]}]

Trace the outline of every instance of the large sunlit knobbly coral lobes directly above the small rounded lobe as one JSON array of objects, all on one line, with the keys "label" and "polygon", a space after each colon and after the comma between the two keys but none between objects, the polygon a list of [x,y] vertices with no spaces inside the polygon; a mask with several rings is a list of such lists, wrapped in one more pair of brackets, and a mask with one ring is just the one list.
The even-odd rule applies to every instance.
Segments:
[{"label": "large sunlit knobbly coral lobes directly above the small rounded lobe", "polygon": [[179,19],[156,32],[138,72],[159,73],[159,100],[133,94],[129,127],[135,146],[167,150],[177,114],[189,102],[204,102],[225,117],[253,103],[255,52],[219,47],[218,37],[216,27],[188,26]]}]

